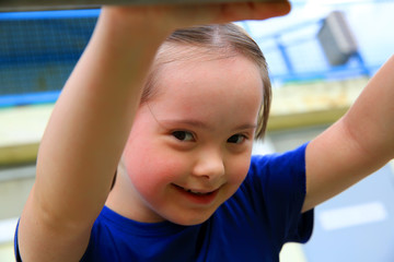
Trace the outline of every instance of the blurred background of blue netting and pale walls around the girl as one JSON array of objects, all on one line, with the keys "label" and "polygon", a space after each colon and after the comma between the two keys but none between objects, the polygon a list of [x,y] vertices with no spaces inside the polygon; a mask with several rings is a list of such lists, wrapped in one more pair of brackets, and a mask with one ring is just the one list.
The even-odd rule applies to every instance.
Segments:
[{"label": "blurred background of blue netting and pale walls around the girl", "polygon": [[[268,134],[255,154],[312,140],[345,114],[394,51],[393,1],[291,3],[287,16],[237,23],[260,46],[274,85]],[[0,12],[0,261],[14,261],[14,228],[43,131],[99,14]],[[286,245],[281,262],[394,261],[393,166],[318,206],[312,239]]]}]

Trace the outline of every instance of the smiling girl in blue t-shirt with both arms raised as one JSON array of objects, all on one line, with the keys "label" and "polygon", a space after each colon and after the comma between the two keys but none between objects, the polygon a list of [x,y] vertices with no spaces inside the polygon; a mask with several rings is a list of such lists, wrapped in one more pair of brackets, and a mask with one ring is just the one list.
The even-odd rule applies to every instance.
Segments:
[{"label": "smiling girl in blue t-shirt with both arms raised", "polygon": [[278,261],[285,242],[306,241],[315,205],[394,155],[394,59],[318,138],[251,157],[266,62],[218,23],[288,10],[104,8],[44,134],[16,259]]}]

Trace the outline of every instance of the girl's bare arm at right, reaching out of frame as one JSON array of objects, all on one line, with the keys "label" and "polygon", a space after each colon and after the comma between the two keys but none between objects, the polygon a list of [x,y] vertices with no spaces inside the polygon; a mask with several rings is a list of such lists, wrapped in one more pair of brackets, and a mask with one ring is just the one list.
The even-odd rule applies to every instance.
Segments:
[{"label": "girl's bare arm at right, reaching out of frame", "polygon": [[306,147],[303,211],[338,194],[394,157],[394,57],[349,111]]}]

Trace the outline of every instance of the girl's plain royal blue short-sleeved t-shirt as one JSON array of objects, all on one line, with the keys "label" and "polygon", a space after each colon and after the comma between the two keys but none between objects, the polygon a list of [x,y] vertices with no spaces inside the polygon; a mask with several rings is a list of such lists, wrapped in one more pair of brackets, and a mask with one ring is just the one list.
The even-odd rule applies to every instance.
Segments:
[{"label": "girl's plain royal blue short-sleeved t-shirt", "polygon": [[240,189],[196,226],[139,223],[104,206],[81,261],[279,261],[283,243],[312,234],[313,211],[301,214],[305,146],[253,156]]}]

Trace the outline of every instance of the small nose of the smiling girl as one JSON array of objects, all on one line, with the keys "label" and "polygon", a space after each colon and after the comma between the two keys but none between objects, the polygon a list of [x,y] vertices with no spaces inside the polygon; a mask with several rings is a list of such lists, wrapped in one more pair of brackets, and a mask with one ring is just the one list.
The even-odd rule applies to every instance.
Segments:
[{"label": "small nose of the smiling girl", "polygon": [[221,153],[216,151],[205,151],[201,152],[200,157],[198,157],[193,169],[193,175],[213,180],[223,176],[224,170],[224,162]]}]

